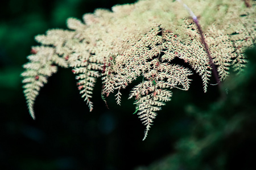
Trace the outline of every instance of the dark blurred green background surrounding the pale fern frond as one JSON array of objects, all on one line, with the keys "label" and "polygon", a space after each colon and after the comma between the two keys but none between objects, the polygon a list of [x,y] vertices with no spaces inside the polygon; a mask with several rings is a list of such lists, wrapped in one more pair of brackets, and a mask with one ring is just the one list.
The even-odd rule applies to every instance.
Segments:
[{"label": "dark blurred green background surrounding the pale fern frond", "polygon": [[[144,126],[123,91],[122,105],[101,100],[94,88],[89,112],[71,69],[49,78],[30,117],[23,96],[22,65],[34,36],[64,28],[95,8],[131,0],[10,0],[0,6],[0,169],[256,169],[256,48],[245,71],[204,94],[193,75],[189,91],[174,90],[145,141]],[[135,82],[136,83],[136,82]],[[130,86],[130,89],[132,86]],[[224,96],[222,96],[224,92]]]}]

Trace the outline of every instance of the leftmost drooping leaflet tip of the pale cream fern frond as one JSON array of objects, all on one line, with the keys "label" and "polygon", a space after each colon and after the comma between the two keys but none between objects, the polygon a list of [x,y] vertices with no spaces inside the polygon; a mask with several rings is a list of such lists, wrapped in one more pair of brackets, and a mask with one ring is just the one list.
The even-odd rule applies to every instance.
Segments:
[{"label": "leftmost drooping leaflet tip of the pale cream fern frond", "polygon": [[64,58],[57,56],[51,47],[36,46],[32,48],[32,53],[34,54],[28,56],[30,62],[23,66],[26,71],[22,73],[22,82],[25,84],[23,88],[30,115],[35,119],[34,103],[40,88],[47,83],[49,76],[57,72],[54,64],[67,66],[67,63]]}]

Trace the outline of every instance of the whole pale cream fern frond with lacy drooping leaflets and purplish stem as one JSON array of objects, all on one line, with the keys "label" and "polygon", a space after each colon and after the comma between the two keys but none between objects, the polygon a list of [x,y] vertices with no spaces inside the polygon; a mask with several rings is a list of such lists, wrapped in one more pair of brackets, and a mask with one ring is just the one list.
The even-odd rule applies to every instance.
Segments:
[{"label": "whole pale cream fern frond with lacy drooping leaflets and purplish stem", "polygon": [[176,65],[175,58],[201,76],[204,92],[212,74],[222,81],[232,67],[240,73],[247,62],[245,50],[255,45],[255,1],[183,1],[185,8],[177,1],[145,0],[112,11],[98,9],[82,22],[68,19],[69,31],[50,29],[36,36],[42,45],[32,49],[22,74],[31,116],[35,118],[35,98],[56,66],[71,67],[77,74],[90,111],[98,77],[102,99],[106,103],[105,96],[116,91],[117,104],[122,89],[142,77],[129,99],[135,98],[135,113],[146,125],[144,140],[156,112],[171,100],[172,88],[189,89],[192,71]]}]

